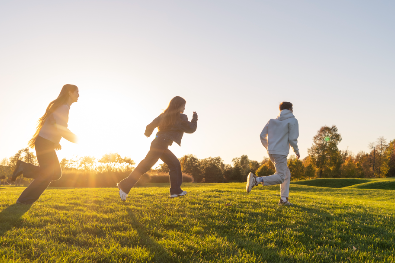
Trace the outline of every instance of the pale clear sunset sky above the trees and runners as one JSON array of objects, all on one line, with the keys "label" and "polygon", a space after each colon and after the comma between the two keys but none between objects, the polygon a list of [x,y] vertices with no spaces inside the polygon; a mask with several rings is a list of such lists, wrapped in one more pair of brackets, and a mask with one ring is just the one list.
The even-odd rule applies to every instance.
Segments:
[{"label": "pale clear sunset sky above the trees and runners", "polygon": [[[301,158],[324,125],[340,150],[395,139],[394,1],[0,2],[0,160],[27,147],[64,84],[79,87],[59,159],[117,152],[136,162],[144,130],[174,96],[198,113],[178,157],[268,156],[259,135],[282,101]],[[157,163],[159,164],[160,161]]]}]

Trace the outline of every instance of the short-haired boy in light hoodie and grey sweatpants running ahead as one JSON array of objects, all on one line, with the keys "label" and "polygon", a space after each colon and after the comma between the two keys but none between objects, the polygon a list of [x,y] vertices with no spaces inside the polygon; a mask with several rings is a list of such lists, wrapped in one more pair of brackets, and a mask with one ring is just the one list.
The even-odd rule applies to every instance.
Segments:
[{"label": "short-haired boy in light hoodie and grey sweatpants running ahead", "polygon": [[246,191],[251,192],[254,186],[261,183],[263,186],[280,184],[281,199],[278,205],[291,206],[289,202],[289,183],[291,172],[287,165],[289,146],[292,147],[297,158],[300,158],[298,149],[299,124],[293,115],[292,103],[281,102],[280,114],[276,119],[270,119],[261,132],[261,142],[268,150],[269,158],[275,166],[274,175],[256,177],[250,173],[247,178]]}]

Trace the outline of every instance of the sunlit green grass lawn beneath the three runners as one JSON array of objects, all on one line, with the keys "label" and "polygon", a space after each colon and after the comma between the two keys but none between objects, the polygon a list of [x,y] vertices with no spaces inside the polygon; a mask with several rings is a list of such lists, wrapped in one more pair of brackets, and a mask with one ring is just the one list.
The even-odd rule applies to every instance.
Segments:
[{"label": "sunlit green grass lawn beneath the three runners", "polygon": [[295,206],[278,207],[278,186],[186,183],[180,198],[150,186],[126,202],[116,188],[49,188],[31,206],[0,187],[0,262],[395,261],[392,190],[292,184]]}]

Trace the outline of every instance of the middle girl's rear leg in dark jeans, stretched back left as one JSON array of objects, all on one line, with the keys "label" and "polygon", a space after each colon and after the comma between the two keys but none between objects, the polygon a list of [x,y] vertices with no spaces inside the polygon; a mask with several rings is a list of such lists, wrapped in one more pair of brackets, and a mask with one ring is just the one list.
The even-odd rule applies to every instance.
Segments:
[{"label": "middle girl's rear leg in dark jeans, stretched back left", "polygon": [[133,172],[118,183],[118,187],[125,193],[129,193],[131,188],[139,181],[140,177],[148,172],[154,164],[157,163],[163,152],[169,146],[166,143],[167,139],[155,138],[152,143],[147,156],[137,165]]}]

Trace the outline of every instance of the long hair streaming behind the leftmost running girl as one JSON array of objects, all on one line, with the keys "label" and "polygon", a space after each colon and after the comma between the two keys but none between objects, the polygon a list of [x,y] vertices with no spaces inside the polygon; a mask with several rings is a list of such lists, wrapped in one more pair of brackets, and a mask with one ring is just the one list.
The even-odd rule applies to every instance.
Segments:
[{"label": "long hair streaming behind the leftmost running girl", "polygon": [[37,121],[37,128],[36,132],[33,135],[32,139],[30,139],[28,146],[30,148],[34,148],[34,143],[36,142],[37,137],[39,136],[40,130],[42,126],[44,126],[45,121],[47,118],[60,106],[63,104],[66,104],[67,101],[69,100],[69,91],[75,92],[77,89],[77,86],[71,85],[71,84],[66,84],[62,87],[62,90],[60,91],[59,96],[56,98],[56,100],[53,100],[49,103],[48,107],[46,108],[45,114]]}]

